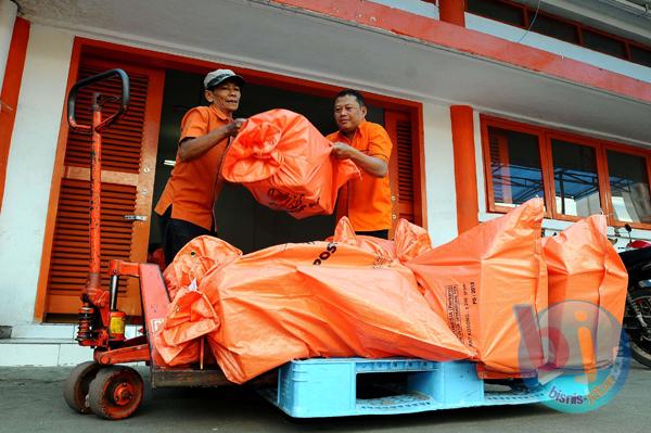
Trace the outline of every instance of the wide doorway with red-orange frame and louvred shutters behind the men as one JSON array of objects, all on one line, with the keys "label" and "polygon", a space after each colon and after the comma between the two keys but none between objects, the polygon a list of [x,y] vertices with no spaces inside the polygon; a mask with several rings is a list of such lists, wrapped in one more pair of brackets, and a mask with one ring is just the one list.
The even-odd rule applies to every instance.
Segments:
[{"label": "wide doorway with red-orange frame and louvred shutters behind the men", "polygon": [[[229,67],[75,38],[68,89],[78,78],[115,67],[125,69],[131,79],[128,122],[116,123],[102,143],[103,168],[107,175],[104,179],[102,173],[102,193],[105,193],[102,203],[107,211],[102,213],[104,286],[107,286],[108,259],[142,263],[146,259],[148,239],[161,242],[157,217],[127,220],[124,216],[151,214],[171,171],[165,161],[175,161],[181,118],[190,107],[204,103],[203,75],[225,66]],[[240,116],[284,107],[304,114],[323,133],[335,129],[330,98],[337,87],[255,69],[237,68],[237,72],[251,80],[244,89]],[[86,91],[90,92],[90,89]],[[423,225],[426,214],[422,198],[422,106],[418,102],[376,93],[365,95],[369,103],[369,119],[385,125],[394,143],[390,161],[394,226],[398,218]],[[77,115],[81,115],[82,107],[90,110],[89,106],[89,103],[78,103]],[[86,116],[88,120],[90,113]],[[61,163],[55,165],[52,176],[35,303],[36,321],[71,321],[75,317],[89,263],[86,239],[90,147],[88,138],[80,139],[78,133],[68,131],[65,118],[56,152],[56,161]],[[294,220],[284,213],[258,205],[238,186],[224,191],[217,211],[220,237],[245,252],[283,242],[323,239],[332,234],[335,222],[332,216]],[[137,280],[128,279],[126,286],[120,285],[119,300],[120,309],[130,317],[140,315]]]}]

